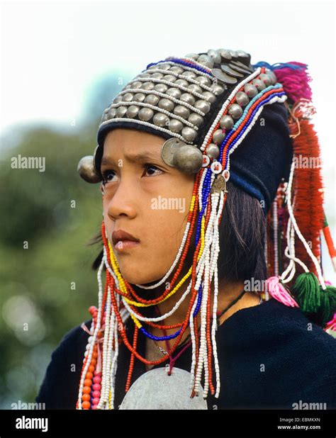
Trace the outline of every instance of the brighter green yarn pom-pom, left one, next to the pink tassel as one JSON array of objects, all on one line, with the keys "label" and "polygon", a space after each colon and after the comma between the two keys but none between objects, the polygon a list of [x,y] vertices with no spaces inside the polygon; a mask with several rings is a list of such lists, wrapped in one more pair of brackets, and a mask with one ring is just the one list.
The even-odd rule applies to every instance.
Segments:
[{"label": "brighter green yarn pom-pom, left one, next to the pink tassel", "polygon": [[320,283],[313,272],[300,274],[292,292],[303,313],[316,313],[319,310],[321,305]]}]

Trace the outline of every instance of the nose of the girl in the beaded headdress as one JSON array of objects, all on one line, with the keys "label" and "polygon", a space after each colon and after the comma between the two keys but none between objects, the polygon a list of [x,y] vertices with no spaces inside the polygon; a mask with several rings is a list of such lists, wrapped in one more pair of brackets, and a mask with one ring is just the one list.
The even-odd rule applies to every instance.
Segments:
[{"label": "nose of the girl in the beaded headdress", "polygon": [[107,205],[107,215],[111,220],[116,220],[123,216],[127,218],[135,218],[136,202],[135,202],[134,184],[130,181],[120,181],[116,191],[111,196]]}]

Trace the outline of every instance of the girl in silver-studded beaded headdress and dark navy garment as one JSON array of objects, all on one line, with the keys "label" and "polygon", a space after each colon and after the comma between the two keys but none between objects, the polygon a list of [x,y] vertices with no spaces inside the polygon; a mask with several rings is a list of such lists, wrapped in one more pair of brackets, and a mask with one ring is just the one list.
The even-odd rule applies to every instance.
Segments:
[{"label": "girl in silver-studded beaded headdress and dark navy garment", "polygon": [[335,408],[321,230],[335,248],[320,169],[296,166],[319,154],[310,99],[305,64],[242,50],[167,57],[126,84],[79,162],[101,183],[98,304],[53,352],[38,403]]}]

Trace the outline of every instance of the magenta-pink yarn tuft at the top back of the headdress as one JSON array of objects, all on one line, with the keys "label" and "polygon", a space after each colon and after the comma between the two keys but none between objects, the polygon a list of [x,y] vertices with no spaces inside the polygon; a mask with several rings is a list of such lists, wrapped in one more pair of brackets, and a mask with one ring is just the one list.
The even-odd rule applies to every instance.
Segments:
[{"label": "magenta-pink yarn tuft at the top back of the headdress", "polygon": [[299,99],[308,99],[308,101],[311,101],[312,91],[308,84],[311,81],[311,77],[308,72],[306,72],[306,69],[308,68],[307,64],[296,61],[286,62],[286,64],[294,64],[300,67],[281,67],[273,70],[276,79],[284,87],[286,95],[293,102],[296,102]]}]

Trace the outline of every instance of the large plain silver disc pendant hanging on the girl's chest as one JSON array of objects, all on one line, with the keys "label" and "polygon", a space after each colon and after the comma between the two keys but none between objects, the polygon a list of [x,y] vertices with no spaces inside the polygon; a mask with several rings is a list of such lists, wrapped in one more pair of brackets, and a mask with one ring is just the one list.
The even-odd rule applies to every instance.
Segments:
[{"label": "large plain silver disc pendant hanging on the girl's chest", "polygon": [[184,369],[173,368],[170,376],[165,367],[151,369],[133,383],[119,409],[208,409],[203,388],[190,398],[190,379]]}]

